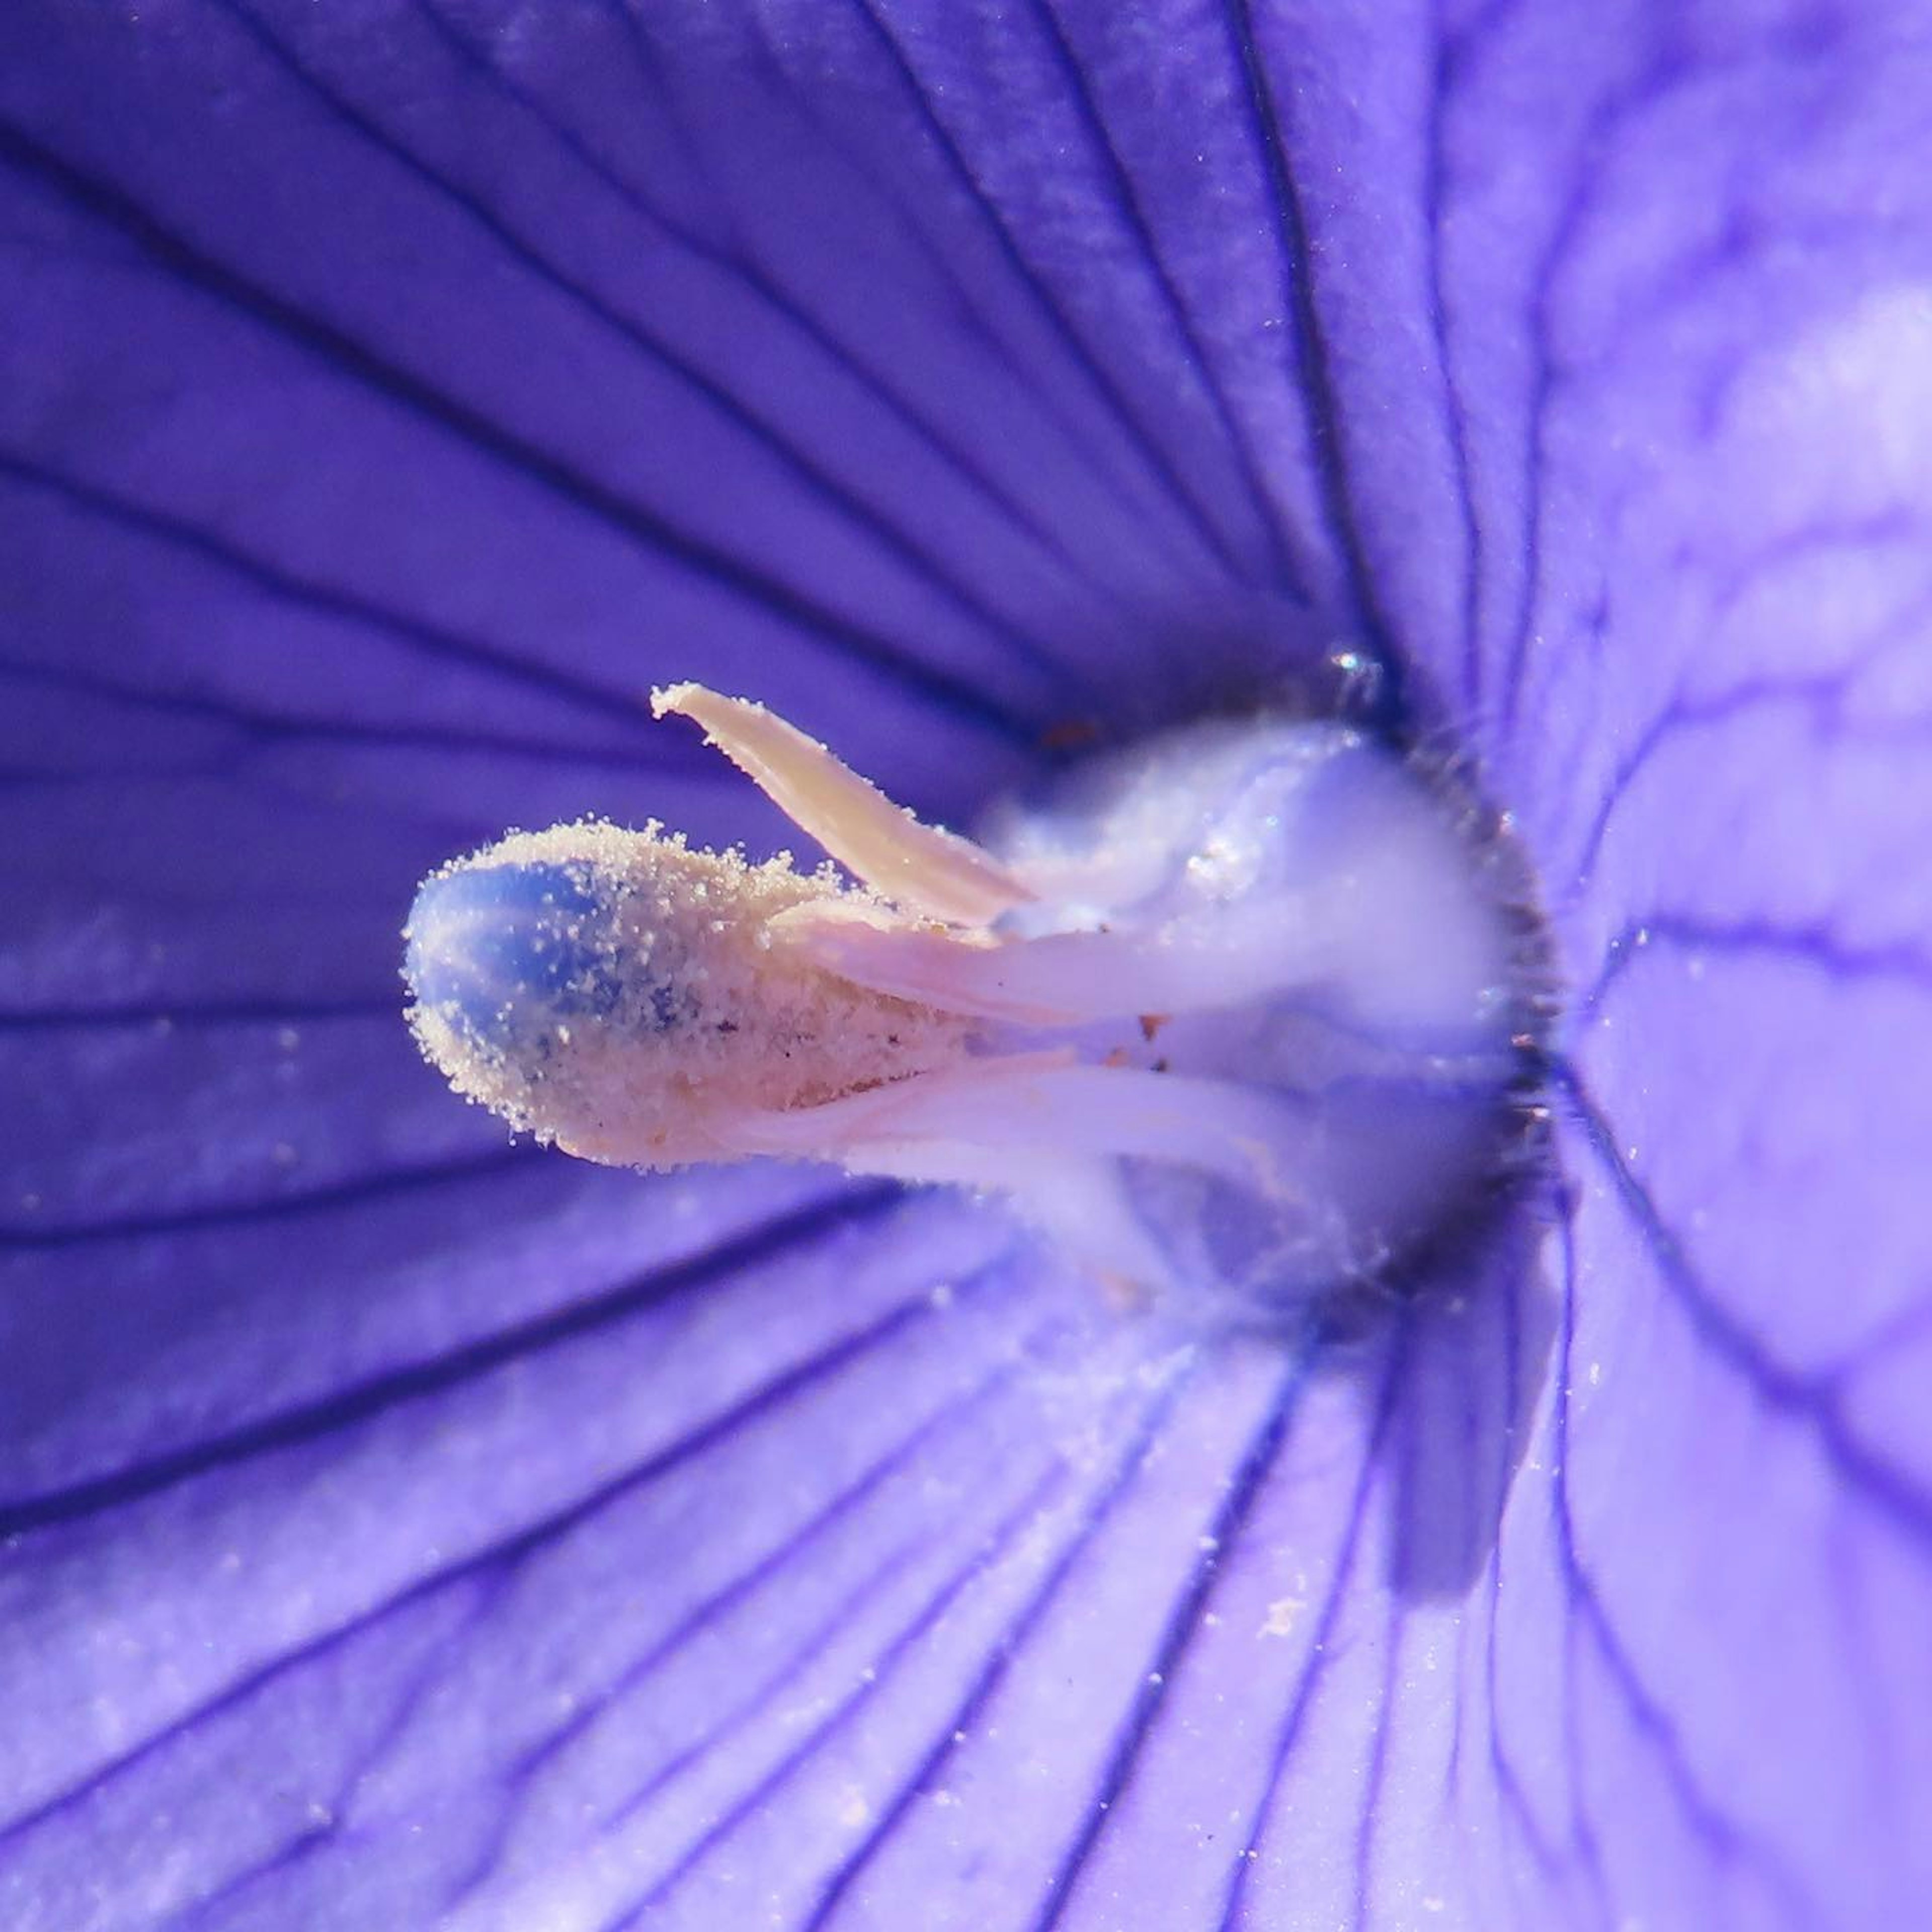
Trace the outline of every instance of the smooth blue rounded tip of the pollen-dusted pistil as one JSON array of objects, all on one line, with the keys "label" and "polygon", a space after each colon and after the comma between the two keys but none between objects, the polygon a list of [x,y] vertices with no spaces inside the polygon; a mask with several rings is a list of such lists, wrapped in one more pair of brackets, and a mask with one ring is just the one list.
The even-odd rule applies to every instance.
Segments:
[{"label": "smooth blue rounded tip of the pollen-dusted pistil", "polygon": [[439,873],[415,895],[404,976],[471,1041],[537,1043],[549,1022],[603,1018],[622,999],[611,912],[582,866]]}]

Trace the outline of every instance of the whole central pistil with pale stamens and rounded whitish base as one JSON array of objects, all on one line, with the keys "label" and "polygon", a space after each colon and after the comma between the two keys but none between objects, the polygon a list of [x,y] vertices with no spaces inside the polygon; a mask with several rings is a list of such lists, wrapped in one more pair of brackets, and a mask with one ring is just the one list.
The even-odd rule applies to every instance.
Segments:
[{"label": "whole central pistil with pale stamens and rounded whitish base", "polygon": [[410,1024],[514,1128],[645,1169],[960,1184],[1136,1291],[1260,1296],[1389,1269],[1503,1157],[1517,875],[1379,740],[1198,724],[976,842],[748,699],[678,684],[653,711],[833,864],[583,821],[433,873]]}]

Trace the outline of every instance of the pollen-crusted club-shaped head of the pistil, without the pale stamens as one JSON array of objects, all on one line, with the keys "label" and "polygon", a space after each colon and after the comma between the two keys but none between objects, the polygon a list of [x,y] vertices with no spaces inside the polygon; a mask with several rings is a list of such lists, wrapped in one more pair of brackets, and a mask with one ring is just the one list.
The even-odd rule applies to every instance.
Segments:
[{"label": "pollen-crusted club-shaped head of the pistil, without the pale stamens", "polygon": [[858,895],[829,871],[750,866],[655,825],[516,833],[419,889],[410,1024],[460,1094],[570,1153],[744,1159],[767,1115],[964,1057],[958,1018],[773,945],[781,912],[840,896]]}]

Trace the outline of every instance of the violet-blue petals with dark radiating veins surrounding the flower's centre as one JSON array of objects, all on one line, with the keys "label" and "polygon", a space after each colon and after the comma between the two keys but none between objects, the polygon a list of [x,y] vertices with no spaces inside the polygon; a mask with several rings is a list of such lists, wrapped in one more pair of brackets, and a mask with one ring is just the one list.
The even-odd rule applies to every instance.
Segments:
[{"label": "violet-blue petals with dark radiating veins surrounding the flower's centre", "polygon": [[[1903,1926],[1922,10],[0,10],[0,1920]],[[506,1148],[404,910],[1352,645],[1551,1173],[1354,1343]]]}]

